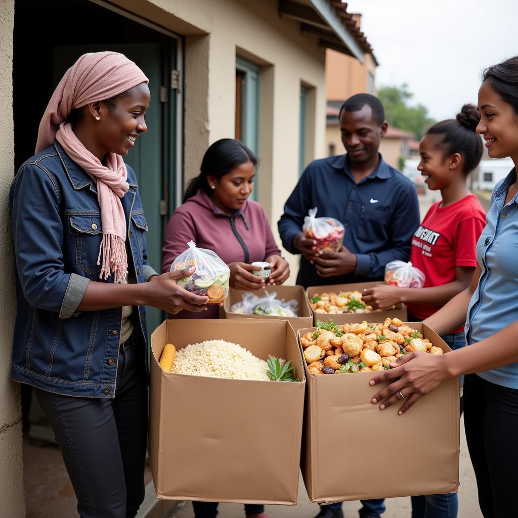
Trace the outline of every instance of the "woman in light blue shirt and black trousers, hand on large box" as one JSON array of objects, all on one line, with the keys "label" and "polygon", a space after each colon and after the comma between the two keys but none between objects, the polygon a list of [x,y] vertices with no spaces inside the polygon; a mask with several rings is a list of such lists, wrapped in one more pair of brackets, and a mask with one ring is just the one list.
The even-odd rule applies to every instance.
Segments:
[{"label": "woman in light blue shirt and black trousers, hand on large box", "polygon": [[[518,164],[518,56],[484,71],[477,131],[491,158]],[[466,319],[469,347],[431,357],[402,356],[384,376],[396,381],[377,393],[383,410],[406,399],[399,414],[442,381],[467,375],[464,420],[484,518],[516,515],[511,490],[518,465],[518,179],[516,167],[493,191],[486,227],[477,243],[478,266],[469,288],[424,321],[439,334]],[[467,318],[466,318],[467,313]],[[396,366],[397,365],[397,366]],[[389,388],[390,387],[390,388]],[[395,394],[384,400],[390,394]]]}]

